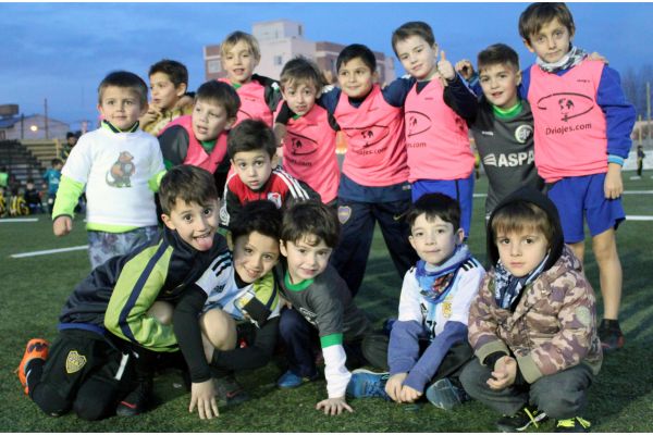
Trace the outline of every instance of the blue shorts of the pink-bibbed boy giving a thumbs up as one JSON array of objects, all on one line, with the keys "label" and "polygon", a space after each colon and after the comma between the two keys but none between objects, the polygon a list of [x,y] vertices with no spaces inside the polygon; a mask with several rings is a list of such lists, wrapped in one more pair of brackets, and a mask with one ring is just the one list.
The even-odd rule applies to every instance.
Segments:
[{"label": "blue shorts of the pink-bibbed boy giving a thumbs up", "polygon": [[460,227],[465,229],[465,237],[469,237],[473,206],[473,172],[467,178],[418,179],[412,183],[411,187],[412,202],[424,194],[438,192],[454,198],[460,204]]}]

